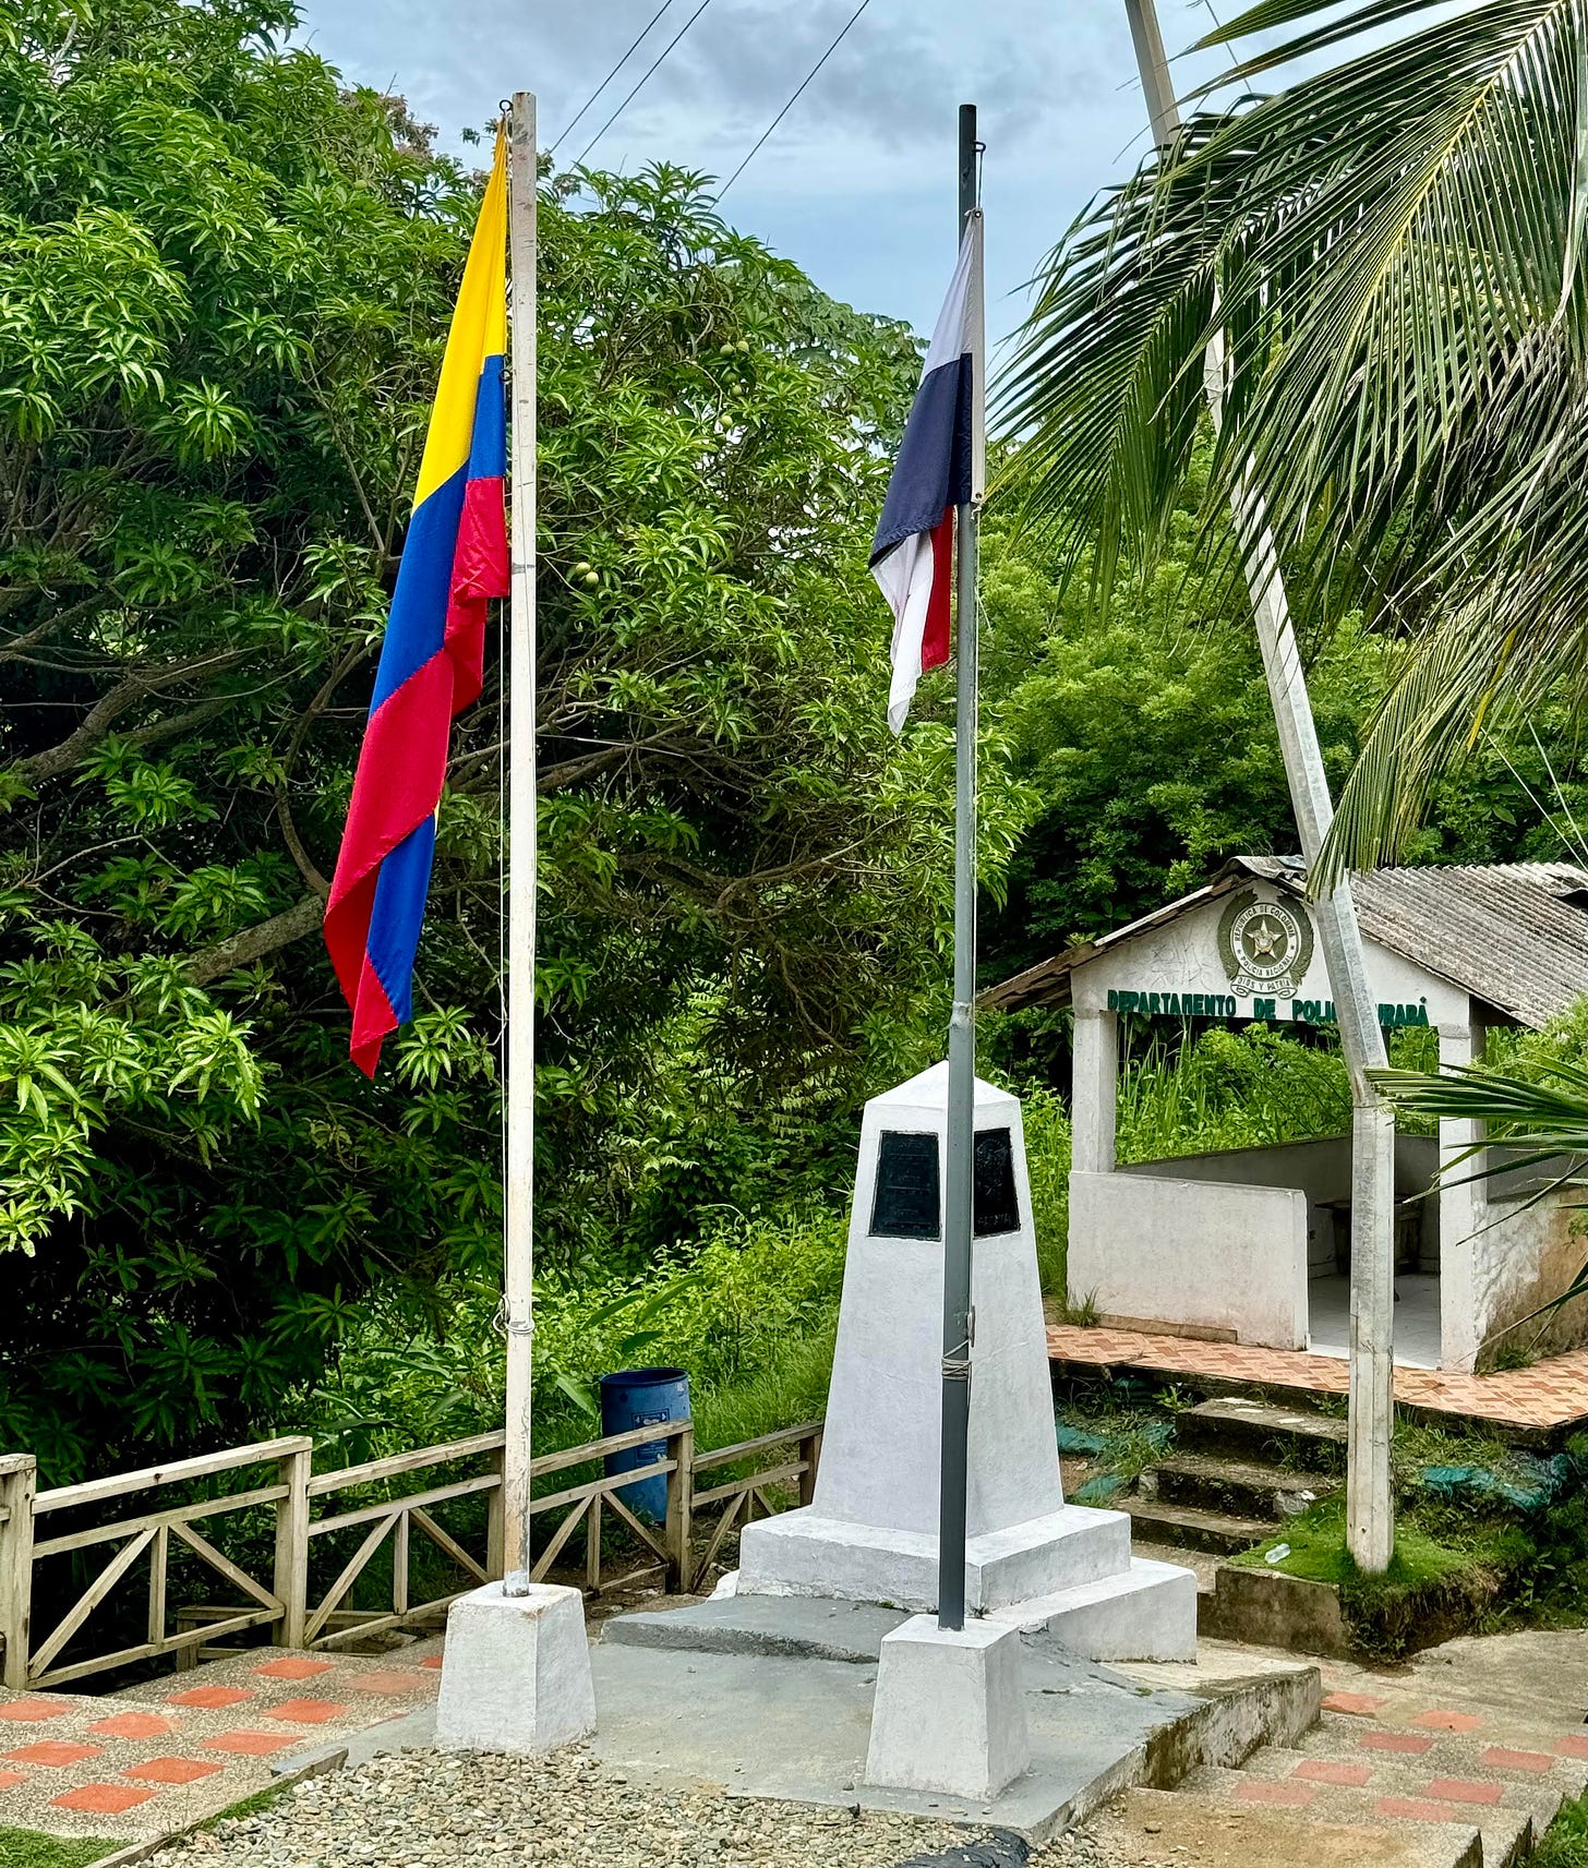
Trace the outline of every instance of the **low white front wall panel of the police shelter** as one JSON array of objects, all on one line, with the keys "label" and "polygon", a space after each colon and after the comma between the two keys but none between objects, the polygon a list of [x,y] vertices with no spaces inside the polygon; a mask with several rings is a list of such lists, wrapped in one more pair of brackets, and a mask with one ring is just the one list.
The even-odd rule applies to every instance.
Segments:
[{"label": "low white front wall panel of the police shelter", "polygon": [[1070,1175],[1070,1300],[1306,1349],[1308,1197],[1293,1186]]}]

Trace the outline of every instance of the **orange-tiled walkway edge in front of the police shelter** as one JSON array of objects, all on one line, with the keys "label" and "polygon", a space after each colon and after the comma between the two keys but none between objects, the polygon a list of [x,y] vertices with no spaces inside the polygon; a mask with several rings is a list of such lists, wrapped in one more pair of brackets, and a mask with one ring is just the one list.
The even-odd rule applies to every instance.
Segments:
[{"label": "orange-tiled walkway edge in front of the police shelter", "polygon": [[[1136,1330],[1052,1324],[1048,1356],[1070,1366],[1128,1367],[1229,1386],[1325,1395],[1343,1395],[1351,1386],[1349,1366],[1338,1356],[1254,1349],[1244,1343],[1196,1343],[1181,1336],[1147,1336]],[[1461,1414],[1498,1427],[1543,1431],[1588,1423],[1588,1349],[1573,1349],[1504,1375],[1396,1369],[1396,1399],[1433,1414]]]}]

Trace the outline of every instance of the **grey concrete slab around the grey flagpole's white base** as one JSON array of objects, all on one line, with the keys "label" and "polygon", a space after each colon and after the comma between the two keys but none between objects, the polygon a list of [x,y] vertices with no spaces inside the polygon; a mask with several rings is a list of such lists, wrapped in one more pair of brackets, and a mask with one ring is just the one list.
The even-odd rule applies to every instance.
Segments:
[{"label": "grey concrete slab around the grey flagpole's white base", "polygon": [[[594,1648],[594,1752],[650,1782],[861,1804],[1011,1829],[1031,1842],[1130,1784],[1175,1782],[1295,1743],[1317,1717],[1315,1668],[1205,1691],[1153,1689],[1082,1661],[1046,1631],[1022,1636],[1029,1771],[988,1803],[865,1784],[876,1659],[897,1610],[813,1597],[725,1597],[617,1616]],[[1285,1737],[1283,1734],[1291,1734]]]}]

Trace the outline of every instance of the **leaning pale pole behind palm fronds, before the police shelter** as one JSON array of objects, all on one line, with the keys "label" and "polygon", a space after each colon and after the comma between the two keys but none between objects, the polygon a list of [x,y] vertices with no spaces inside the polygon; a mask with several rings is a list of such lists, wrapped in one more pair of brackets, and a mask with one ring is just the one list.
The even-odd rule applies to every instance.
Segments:
[{"label": "leaning pale pole behind palm fronds, before the police shelter", "polygon": [[[1153,140],[1164,148],[1181,127],[1170,64],[1153,0],[1125,0]],[[1224,333],[1207,346],[1203,366],[1214,428],[1224,417]],[[1252,613],[1280,730],[1280,751],[1297,814],[1302,856],[1317,863],[1334,822],[1328,775],[1317,745],[1317,723],[1306,689],[1285,600],[1274,534],[1263,502],[1250,488],[1231,502],[1235,536],[1246,560]],[[1351,1422],[1347,1444],[1345,1534],[1366,1571],[1384,1571],[1396,1552],[1396,1498],[1390,1485],[1390,1440],[1396,1425],[1396,1117],[1368,1080],[1382,1067],[1384,1033],[1368,986],[1362,930],[1351,884],[1315,906],[1319,945],[1340,1016],[1340,1048],[1351,1072]]]}]

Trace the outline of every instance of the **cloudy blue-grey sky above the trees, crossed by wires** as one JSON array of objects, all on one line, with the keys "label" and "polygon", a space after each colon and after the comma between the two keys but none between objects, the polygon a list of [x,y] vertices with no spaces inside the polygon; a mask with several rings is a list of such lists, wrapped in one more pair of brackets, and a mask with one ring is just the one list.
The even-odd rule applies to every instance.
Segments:
[{"label": "cloudy blue-grey sky above the trees, crossed by wires", "polygon": [[[671,161],[727,177],[859,0],[706,0],[592,164]],[[1227,15],[1233,0],[1212,0]],[[506,92],[540,99],[542,148],[661,0],[305,0],[301,39],[351,80],[394,84],[460,149]],[[618,77],[560,142],[574,163],[697,11],[671,0]],[[1175,54],[1211,26],[1209,0],[1160,0]],[[1186,88],[1220,62],[1177,60]],[[1136,164],[1145,108],[1123,0],[869,0],[723,213],[865,310],[930,327],[951,271],[957,106],[986,142],[988,323],[1087,198]]]}]

